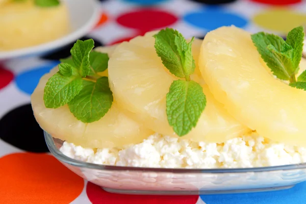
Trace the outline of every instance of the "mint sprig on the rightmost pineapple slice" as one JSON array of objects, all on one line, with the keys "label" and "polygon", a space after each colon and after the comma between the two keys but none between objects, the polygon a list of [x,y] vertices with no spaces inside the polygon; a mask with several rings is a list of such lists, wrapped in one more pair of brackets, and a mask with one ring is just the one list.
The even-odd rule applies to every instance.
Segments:
[{"label": "mint sprig on the rightmost pineapple slice", "polygon": [[303,27],[300,26],[291,30],[286,41],[279,36],[264,32],[251,35],[251,39],[273,74],[278,79],[289,81],[290,85],[294,86],[295,75],[299,70],[302,57]]}]

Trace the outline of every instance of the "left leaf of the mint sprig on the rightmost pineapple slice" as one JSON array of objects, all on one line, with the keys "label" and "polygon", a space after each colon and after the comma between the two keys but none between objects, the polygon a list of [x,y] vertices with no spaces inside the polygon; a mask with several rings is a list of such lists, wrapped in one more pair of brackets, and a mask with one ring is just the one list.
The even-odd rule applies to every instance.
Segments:
[{"label": "left leaf of the mint sprig on the rightmost pineapple slice", "polygon": [[290,80],[290,75],[287,73],[285,67],[271,52],[271,49],[267,49],[268,45],[273,45],[275,48],[274,50],[277,50],[277,52],[282,52],[285,40],[279,36],[264,32],[253,34],[251,35],[251,38],[262,59],[267,63],[273,74],[278,79]]}]

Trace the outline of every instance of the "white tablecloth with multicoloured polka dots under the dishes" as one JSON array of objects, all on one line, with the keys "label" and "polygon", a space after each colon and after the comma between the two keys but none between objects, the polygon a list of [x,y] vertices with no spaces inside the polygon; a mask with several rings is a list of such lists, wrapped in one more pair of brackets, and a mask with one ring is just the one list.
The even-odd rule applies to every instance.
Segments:
[{"label": "white tablecloth with multicoloured polka dots under the dishes", "polygon": [[[222,25],[286,37],[306,24],[301,0],[105,0],[100,20],[82,39],[111,45],[172,27],[203,39]],[[40,77],[70,55],[71,44],[41,57],[0,62],[0,203],[306,203],[306,183],[263,193],[193,196],[120,195],[104,191],[72,173],[48,153],[33,117],[30,95]]]}]

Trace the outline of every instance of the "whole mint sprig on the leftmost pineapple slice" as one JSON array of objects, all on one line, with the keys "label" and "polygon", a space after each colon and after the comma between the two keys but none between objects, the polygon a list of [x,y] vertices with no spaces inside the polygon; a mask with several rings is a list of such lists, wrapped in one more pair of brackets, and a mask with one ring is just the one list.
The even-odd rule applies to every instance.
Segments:
[{"label": "whole mint sprig on the leftmost pineapple slice", "polygon": [[71,48],[71,56],[61,59],[59,71],[46,83],[46,108],[59,108],[68,104],[70,112],[80,121],[99,120],[111,108],[113,95],[108,78],[97,73],[108,67],[105,53],[92,51],[92,39],[78,40]]}]

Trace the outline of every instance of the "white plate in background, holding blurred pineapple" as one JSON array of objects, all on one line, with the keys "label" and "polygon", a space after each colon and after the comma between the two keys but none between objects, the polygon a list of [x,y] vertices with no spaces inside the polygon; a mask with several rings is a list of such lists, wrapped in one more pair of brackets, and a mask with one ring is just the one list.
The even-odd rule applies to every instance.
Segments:
[{"label": "white plate in background, holding blurred pineapple", "polygon": [[86,35],[99,20],[99,8],[95,0],[63,0],[69,10],[71,32],[57,40],[40,45],[0,52],[0,60],[42,55],[56,48],[67,45]]}]

